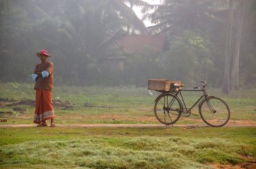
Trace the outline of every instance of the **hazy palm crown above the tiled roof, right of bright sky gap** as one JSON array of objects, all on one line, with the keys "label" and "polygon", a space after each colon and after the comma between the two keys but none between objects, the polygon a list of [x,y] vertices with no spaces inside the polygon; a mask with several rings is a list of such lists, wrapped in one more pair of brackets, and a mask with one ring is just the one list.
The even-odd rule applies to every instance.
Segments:
[{"label": "hazy palm crown above the tiled roof, right of bright sky gap", "polygon": [[148,27],[150,32],[179,35],[183,34],[184,30],[197,29],[199,25],[203,25],[205,19],[215,19],[211,15],[213,9],[209,8],[212,5],[214,1],[210,0],[164,0],[160,5],[146,5],[142,11],[147,13],[154,10],[144,16],[144,19],[148,18],[155,24]]}]

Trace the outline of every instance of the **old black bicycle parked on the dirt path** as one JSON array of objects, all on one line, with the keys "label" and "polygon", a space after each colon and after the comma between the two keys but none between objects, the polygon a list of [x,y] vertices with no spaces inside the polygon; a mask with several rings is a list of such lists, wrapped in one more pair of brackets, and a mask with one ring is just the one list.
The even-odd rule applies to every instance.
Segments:
[{"label": "old black bicycle parked on the dirt path", "polygon": [[[222,127],[228,123],[230,119],[230,109],[222,99],[207,94],[205,87],[207,83],[201,81],[202,87],[194,87],[194,89],[182,89],[184,84],[170,84],[172,91],[162,92],[156,100],[154,113],[160,123],[172,125],[176,123],[181,114],[189,117],[191,109],[199,103],[199,115],[201,119],[212,127]],[[182,91],[203,92],[203,95],[190,108],[187,108],[183,99]],[[181,98],[178,95],[181,95]]]}]

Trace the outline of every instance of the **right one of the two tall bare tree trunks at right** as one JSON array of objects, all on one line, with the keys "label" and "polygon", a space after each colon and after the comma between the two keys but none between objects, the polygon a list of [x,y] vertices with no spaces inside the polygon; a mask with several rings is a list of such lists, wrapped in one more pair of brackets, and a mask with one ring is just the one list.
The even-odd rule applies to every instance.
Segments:
[{"label": "right one of the two tall bare tree trunks at right", "polygon": [[232,71],[230,77],[230,91],[238,89],[238,75],[239,75],[239,58],[240,58],[240,45],[242,38],[243,29],[243,11],[244,11],[244,1],[238,1],[238,17],[237,17],[237,31],[236,31],[236,45],[234,48],[234,59],[232,63]]}]

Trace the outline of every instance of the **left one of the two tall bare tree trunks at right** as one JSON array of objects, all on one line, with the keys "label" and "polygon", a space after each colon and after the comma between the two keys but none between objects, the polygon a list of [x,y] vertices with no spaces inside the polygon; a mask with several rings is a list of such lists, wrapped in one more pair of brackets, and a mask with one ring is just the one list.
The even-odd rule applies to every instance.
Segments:
[{"label": "left one of the two tall bare tree trunks at right", "polygon": [[232,25],[233,25],[233,15],[234,15],[234,1],[229,0],[228,9],[228,26],[226,31],[226,52],[225,52],[225,62],[224,62],[224,78],[222,93],[230,93],[229,83],[230,83],[230,53],[231,53],[231,42],[232,42]]}]

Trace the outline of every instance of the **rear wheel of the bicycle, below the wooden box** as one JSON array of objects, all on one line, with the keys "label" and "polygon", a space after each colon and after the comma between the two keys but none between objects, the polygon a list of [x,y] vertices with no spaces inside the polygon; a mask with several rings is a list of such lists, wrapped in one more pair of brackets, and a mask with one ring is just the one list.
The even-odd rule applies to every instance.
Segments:
[{"label": "rear wheel of the bicycle, below the wooden box", "polygon": [[158,121],[165,125],[174,124],[181,117],[182,104],[175,95],[167,93],[156,100],[154,111]]}]

